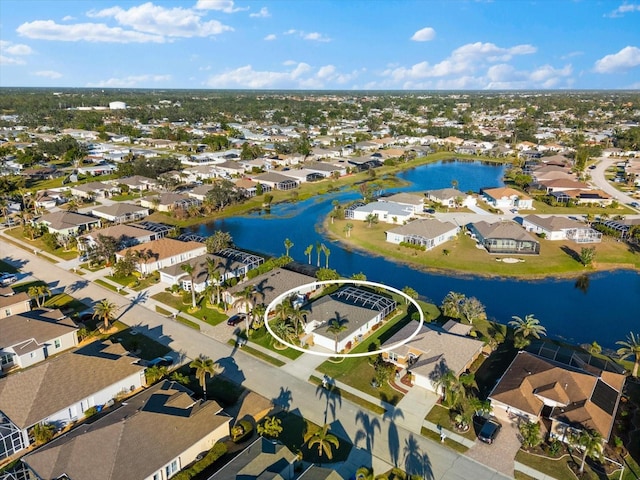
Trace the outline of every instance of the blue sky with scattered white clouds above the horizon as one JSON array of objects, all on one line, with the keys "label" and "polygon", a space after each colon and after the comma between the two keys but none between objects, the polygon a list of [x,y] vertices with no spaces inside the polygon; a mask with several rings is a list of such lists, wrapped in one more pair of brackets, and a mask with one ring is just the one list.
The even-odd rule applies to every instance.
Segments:
[{"label": "blue sky with scattered white clouds above the horizon", "polygon": [[1,0],[0,86],[640,89],[640,1]]}]

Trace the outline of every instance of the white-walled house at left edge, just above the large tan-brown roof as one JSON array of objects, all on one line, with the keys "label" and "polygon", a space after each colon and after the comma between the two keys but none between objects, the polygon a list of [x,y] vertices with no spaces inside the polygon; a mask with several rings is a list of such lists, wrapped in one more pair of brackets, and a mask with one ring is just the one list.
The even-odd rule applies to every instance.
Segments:
[{"label": "white-walled house at left edge, just above the large tan-brown roof", "polygon": [[26,368],[78,345],[78,326],[60,310],[33,310],[0,320],[2,369]]}]

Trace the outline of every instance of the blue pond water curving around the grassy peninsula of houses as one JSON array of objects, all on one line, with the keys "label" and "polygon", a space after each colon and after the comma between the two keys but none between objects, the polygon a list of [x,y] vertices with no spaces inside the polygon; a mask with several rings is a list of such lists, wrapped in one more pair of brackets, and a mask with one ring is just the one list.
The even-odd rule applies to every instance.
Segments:
[{"label": "blue pond water curving around the grassy peninsula of houses", "polygon": [[[504,166],[480,162],[438,162],[400,173],[410,185],[397,191],[424,191],[451,187],[457,182],[464,192],[483,187],[502,186]],[[524,281],[425,272],[379,256],[348,249],[322,234],[322,221],[340,202],[360,197],[354,190],[340,191],[296,203],[274,205],[271,212],[255,212],[241,217],[217,220],[191,229],[208,236],[215,230],[231,234],[238,248],[280,256],[284,239],[294,246],[289,254],[308,262],[307,246],[322,242],[330,250],[329,267],[341,275],[362,272],[368,280],[398,289],[414,288],[422,297],[438,305],[449,291],[476,297],[486,307],[489,318],[507,323],[513,315],[533,314],[546,326],[551,338],[573,343],[596,340],[605,348],[616,348],[630,331],[640,333],[640,274],[618,270],[589,275],[586,281],[546,279]],[[315,265],[317,256],[311,255]],[[321,259],[325,265],[324,255]]]}]

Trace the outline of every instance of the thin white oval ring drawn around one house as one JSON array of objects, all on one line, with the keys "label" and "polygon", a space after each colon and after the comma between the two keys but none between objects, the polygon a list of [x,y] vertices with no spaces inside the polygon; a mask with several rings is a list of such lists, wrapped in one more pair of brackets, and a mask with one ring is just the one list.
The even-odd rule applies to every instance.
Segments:
[{"label": "thin white oval ring drawn around one house", "polygon": [[[389,345],[388,347],[381,348],[379,350],[374,350],[373,352],[362,352],[362,353],[333,353],[333,352],[324,353],[324,352],[314,352],[314,351],[299,347],[297,345],[293,345],[292,343],[285,342],[283,339],[281,339],[275,333],[273,333],[273,330],[271,330],[271,326],[269,325],[269,321],[268,321],[269,320],[269,312],[272,309],[275,309],[276,305],[279,305],[282,302],[282,300],[284,300],[286,297],[288,297],[292,293],[298,293],[300,289],[302,289],[303,287],[306,287],[306,286],[321,286],[321,285],[335,285],[335,284],[355,284],[355,285],[368,285],[370,287],[381,287],[381,288],[384,288],[385,290],[389,290],[391,292],[394,292],[394,293],[397,293],[397,294],[401,295],[408,302],[413,303],[413,305],[415,305],[416,309],[420,313],[420,322],[418,323],[418,327],[416,328],[416,330],[411,335],[409,335],[405,340],[403,340],[401,342],[394,343],[393,345]],[[408,309],[407,309],[407,311],[408,311]],[[302,352],[302,353],[309,353],[311,355],[317,355],[319,357],[327,357],[327,358],[369,357],[371,355],[379,355],[379,354],[381,354],[383,352],[388,352],[390,350],[398,348],[398,347],[406,344],[407,342],[411,341],[411,339],[413,339],[418,334],[418,332],[420,332],[420,330],[422,328],[422,325],[424,325],[424,313],[422,312],[422,309],[420,308],[420,305],[418,305],[418,302],[416,302],[409,295],[407,295],[406,293],[404,293],[401,290],[398,290],[397,288],[390,287],[390,286],[384,285],[382,283],[369,282],[367,280],[353,280],[353,279],[322,280],[322,281],[313,282],[313,283],[305,283],[304,285],[301,285],[301,286],[295,287],[295,288],[291,288],[291,289],[287,290],[286,292],[281,293],[280,295],[278,295],[267,306],[267,310],[264,313],[264,325],[267,328],[267,332],[269,332],[269,335],[271,335],[277,341],[279,341],[283,345],[286,345],[289,348],[293,348],[294,350],[297,350],[297,351]]]}]

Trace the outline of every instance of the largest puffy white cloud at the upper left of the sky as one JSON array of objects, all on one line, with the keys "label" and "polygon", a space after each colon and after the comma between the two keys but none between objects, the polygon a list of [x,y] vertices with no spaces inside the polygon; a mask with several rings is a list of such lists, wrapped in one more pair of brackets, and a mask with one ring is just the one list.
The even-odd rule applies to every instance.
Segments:
[{"label": "largest puffy white cloud at the upper left of the sky", "polygon": [[90,17],[112,17],[120,25],[135,31],[169,37],[209,37],[233,28],[218,20],[202,20],[202,12],[188,8],[165,8],[151,2],[143,3],[128,10],[120,7],[89,12]]}]

